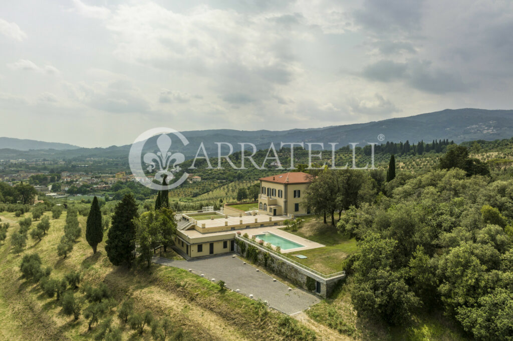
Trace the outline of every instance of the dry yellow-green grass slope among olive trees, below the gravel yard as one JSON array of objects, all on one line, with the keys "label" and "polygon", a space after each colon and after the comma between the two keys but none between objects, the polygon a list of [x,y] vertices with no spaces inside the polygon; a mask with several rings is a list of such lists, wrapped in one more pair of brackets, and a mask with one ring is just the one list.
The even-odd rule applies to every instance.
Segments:
[{"label": "dry yellow-green grass slope among olive trees, below the gravel yard", "polygon": [[[0,246],[1,339],[90,339],[95,334],[95,327],[87,330],[83,316],[72,321],[62,313],[55,298],[48,298],[37,284],[21,278],[19,264],[24,254],[32,252],[40,254],[44,266],[52,267],[54,278],[60,279],[70,270],[80,271],[84,276],[82,284],[103,282],[112,290],[119,302],[116,308],[131,296],[137,311],[151,310],[157,318],[167,316],[193,339],[280,340],[304,339],[305,335],[312,335],[298,323],[292,328],[280,328],[280,322],[284,322],[281,314],[259,309],[257,302],[240,294],[220,293],[217,285],[187,271],[158,265],[152,265],[149,270],[112,266],[105,254],[104,242],[98,245],[98,252],[92,254],[85,240],[85,217],[79,217],[82,236],[66,259],[57,257],[56,253],[66,214],[51,220],[50,230],[41,242],[29,238],[27,247],[19,254],[14,253],[10,245],[10,236],[18,229],[18,219],[6,212],[0,214],[0,218],[11,223],[8,237]],[[115,316],[116,308],[110,315]],[[123,329],[123,339],[140,339],[117,317],[113,321]],[[151,339],[149,328],[145,329],[142,338]]]}]

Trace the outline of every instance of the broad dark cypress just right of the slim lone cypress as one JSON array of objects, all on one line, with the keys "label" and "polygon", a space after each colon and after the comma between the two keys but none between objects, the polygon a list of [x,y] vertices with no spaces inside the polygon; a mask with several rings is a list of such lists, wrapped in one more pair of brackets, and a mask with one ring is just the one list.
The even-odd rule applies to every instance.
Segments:
[{"label": "broad dark cypress just right of the slim lone cypress", "polygon": [[112,224],[107,233],[105,251],[112,264],[128,267],[132,265],[135,258],[135,225],[132,220],[138,216],[137,203],[133,195],[125,195],[116,205]]}]

